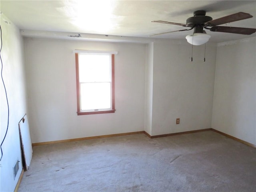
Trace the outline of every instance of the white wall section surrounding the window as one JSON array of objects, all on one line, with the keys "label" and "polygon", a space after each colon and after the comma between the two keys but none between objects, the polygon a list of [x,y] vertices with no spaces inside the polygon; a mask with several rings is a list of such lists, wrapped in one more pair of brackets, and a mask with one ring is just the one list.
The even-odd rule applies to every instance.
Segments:
[{"label": "white wall section surrounding the window", "polygon": [[[112,114],[76,114],[73,50],[115,50]],[[25,39],[32,143],[144,130],[145,44]]]}]

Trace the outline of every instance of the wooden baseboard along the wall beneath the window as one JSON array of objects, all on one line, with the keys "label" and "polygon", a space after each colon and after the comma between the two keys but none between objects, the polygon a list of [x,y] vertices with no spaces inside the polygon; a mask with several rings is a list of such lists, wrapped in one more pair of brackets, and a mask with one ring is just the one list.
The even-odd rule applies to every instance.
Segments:
[{"label": "wooden baseboard along the wall beneath the window", "polygon": [[100,136],[83,137],[83,138],[75,138],[75,139],[47,141],[47,142],[40,142],[40,143],[32,143],[32,146],[47,145],[47,144],[54,144],[54,143],[64,143],[64,142],[72,142],[72,141],[81,141],[81,140],[88,140],[88,139],[98,139],[98,138],[106,138],[106,137],[116,137],[116,136],[124,136],[124,135],[134,135],[134,134],[141,134],[141,133],[145,133],[145,132],[144,131],[137,131],[137,132],[100,135]]}]

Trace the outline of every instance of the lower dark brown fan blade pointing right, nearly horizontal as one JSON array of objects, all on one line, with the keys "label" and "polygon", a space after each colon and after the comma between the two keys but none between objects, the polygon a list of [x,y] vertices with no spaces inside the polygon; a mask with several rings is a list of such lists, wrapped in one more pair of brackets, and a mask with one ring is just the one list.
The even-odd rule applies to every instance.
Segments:
[{"label": "lower dark brown fan blade pointing right, nearly horizontal", "polygon": [[250,35],[250,34],[255,33],[256,29],[240,28],[240,27],[214,26],[214,27],[210,28],[210,31]]}]

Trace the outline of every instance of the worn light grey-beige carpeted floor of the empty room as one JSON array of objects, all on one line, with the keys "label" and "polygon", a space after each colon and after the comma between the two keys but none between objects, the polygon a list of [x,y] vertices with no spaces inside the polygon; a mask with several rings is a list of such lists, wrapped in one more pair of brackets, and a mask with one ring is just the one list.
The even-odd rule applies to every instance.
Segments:
[{"label": "worn light grey-beige carpeted floor of the empty room", "polygon": [[256,149],[213,131],[33,148],[18,192],[255,192]]}]

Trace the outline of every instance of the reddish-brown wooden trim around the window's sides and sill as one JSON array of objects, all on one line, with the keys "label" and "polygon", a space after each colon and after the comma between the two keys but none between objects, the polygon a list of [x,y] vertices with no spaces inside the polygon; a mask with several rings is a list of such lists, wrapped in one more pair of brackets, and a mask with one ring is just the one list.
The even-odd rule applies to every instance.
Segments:
[{"label": "reddish-brown wooden trim around the window's sides and sill", "polygon": [[[80,52],[81,53],[81,52]],[[114,69],[114,58],[115,55],[111,54],[111,70],[112,70],[112,109],[110,110],[95,110],[95,111],[81,111],[80,110],[80,82],[79,82],[79,61],[78,52],[75,52],[76,58],[76,100],[77,100],[77,115],[90,115],[90,114],[104,114],[104,113],[114,113],[115,109],[115,69]]]}]

